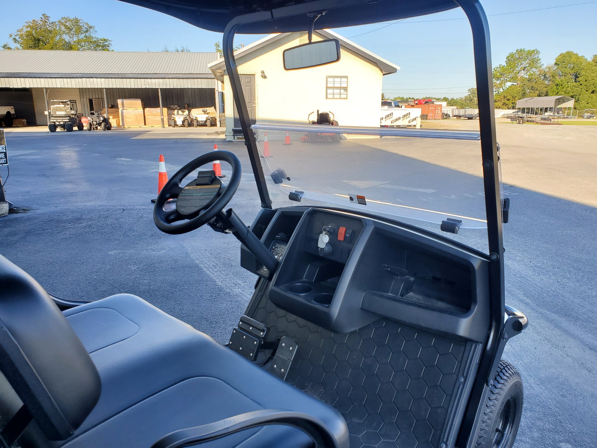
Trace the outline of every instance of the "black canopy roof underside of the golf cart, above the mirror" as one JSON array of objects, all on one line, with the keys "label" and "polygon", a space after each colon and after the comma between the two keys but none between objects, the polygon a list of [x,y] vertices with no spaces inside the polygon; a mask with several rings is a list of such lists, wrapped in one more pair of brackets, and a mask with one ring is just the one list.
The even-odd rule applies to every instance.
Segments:
[{"label": "black canopy roof underside of the golf cart, above the mirror", "polygon": [[[454,0],[121,0],[177,17],[195,26],[223,32],[230,20],[261,13],[263,22],[245,24],[245,34],[304,31],[311,21],[306,13],[327,11],[316,28],[338,28],[423,16],[457,8]],[[288,14],[302,14],[288,17]]]}]

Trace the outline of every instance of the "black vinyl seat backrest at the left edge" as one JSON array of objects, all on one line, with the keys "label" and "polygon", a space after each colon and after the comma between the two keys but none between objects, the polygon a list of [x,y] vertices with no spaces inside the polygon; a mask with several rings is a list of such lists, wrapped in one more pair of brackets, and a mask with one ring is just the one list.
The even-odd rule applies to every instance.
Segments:
[{"label": "black vinyl seat backrest at the left edge", "polygon": [[50,440],[64,440],[100,397],[81,340],[46,291],[0,255],[0,370]]}]

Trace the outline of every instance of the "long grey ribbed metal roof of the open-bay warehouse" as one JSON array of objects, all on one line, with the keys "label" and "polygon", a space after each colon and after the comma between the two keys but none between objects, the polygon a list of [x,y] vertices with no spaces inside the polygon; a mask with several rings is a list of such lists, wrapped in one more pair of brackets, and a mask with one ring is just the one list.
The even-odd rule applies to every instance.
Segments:
[{"label": "long grey ribbed metal roof of the open-bay warehouse", "polygon": [[218,53],[0,50],[0,76],[47,78],[213,78]]}]

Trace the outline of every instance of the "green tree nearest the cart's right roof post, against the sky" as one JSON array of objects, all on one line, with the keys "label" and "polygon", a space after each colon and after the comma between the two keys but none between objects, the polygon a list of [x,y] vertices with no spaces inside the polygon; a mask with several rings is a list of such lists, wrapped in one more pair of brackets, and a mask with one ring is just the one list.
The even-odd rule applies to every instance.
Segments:
[{"label": "green tree nearest the cart's right roof post, against the sky", "polygon": [[543,66],[539,50],[518,48],[506,56],[506,62],[493,69],[494,90],[500,92],[510,85],[520,86],[524,78],[537,75]]}]

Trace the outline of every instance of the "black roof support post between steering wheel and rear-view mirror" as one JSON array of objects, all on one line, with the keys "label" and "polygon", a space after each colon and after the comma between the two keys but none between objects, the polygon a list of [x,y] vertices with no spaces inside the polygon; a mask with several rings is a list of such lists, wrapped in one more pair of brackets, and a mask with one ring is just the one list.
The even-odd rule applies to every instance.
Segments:
[{"label": "black roof support post between steering wheel and rear-view mirror", "polygon": [[[254,17],[256,14],[248,14],[247,16]],[[267,14],[266,18],[269,17],[271,16]],[[247,102],[245,101],[245,95],[242,91],[241,78],[238,75],[238,67],[236,66],[236,60],[234,58],[234,35],[241,24],[239,17],[235,17],[235,19],[232,19],[230,23],[227,24],[226,29],[224,30],[222,51],[224,53],[226,72],[230,81],[230,87],[232,87],[234,102],[236,103],[236,112],[238,112],[238,119],[241,122],[242,134],[245,137],[245,145],[247,146],[251,168],[253,168],[253,174],[255,175],[257,191],[259,191],[261,208],[272,208],[272,200],[267,191],[263,168],[261,167],[261,161],[259,160],[257,140],[255,139],[253,130],[251,130],[251,120],[247,109]]]}]

